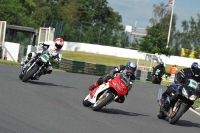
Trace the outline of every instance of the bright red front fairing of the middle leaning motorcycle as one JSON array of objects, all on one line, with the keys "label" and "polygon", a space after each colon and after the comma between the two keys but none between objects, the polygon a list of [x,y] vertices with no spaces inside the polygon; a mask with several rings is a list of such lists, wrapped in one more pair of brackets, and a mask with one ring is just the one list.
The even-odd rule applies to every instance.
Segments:
[{"label": "bright red front fairing of the middle leaning motorcycle", "polygon": [[128,86],[120,78],[120,73],[117,76],[109,81],[109,86],[115,89],[118,95],[126,95],[128,92]]}]

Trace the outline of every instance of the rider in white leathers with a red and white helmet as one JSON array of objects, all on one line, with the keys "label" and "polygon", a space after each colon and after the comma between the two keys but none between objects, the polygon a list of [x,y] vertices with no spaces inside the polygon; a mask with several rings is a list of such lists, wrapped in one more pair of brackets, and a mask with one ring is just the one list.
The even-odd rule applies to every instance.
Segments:
[{"label": "rider in white leathers with a red and white helmet", "polygon": [[[21,62],[21,65],[26,65],[26,63],[28,63],[28,61],[30,59],[35,58],[37,55],[40,55],[42,53],[43,50],[47,50],[48,49],[48,53],[51,59],[54,59],[55,61],[60,62],[61,61],[61,57],[62,57],[62,47],[64,45],[64,40],[62,38],[56,38],[55,41],[46,41],[46,42],[42,42],[38,44],[38,50],[37,53],[36,52],[30,52],[27,56],[27,59],[25,59],[23,62]],[[58,58],[58,60],[56,60],[56,57]],[[49,65],[47,67],[47,72],[48,74],[51,74],[52,72],[52,67],[51,67],[51,62],[49,61]],[[45,75],[46,73],[42,73],[43,75]],[[41,75],[39,75],[40,77]],[[37,77],[36,79],[38,80],[39,77]]]}]

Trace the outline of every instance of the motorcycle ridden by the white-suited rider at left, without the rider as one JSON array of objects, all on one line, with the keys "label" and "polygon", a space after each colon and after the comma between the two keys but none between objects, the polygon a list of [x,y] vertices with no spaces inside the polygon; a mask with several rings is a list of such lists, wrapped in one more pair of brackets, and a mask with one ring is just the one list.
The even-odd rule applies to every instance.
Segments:
[{"label": "motorcycle ridden by the white-suited rider at left, without the rider", "polygon": [[[58,56],[56,56],[55,58],[58,58]],[[23,82],[26,82],[29,79],[38,79],[40,75],[47,72],[49,60],[50,57],[48,50],[43,50],[42,53],[38,53],[35,58],[30,59],[28,63],[26,63],[24,66],[21,66],[19,78]]]}]

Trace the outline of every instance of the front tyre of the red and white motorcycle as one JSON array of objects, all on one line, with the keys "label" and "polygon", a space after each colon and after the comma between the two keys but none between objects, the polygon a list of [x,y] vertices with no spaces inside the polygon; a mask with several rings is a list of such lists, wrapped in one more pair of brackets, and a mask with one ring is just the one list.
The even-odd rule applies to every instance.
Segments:
[{"label": "front tyre of the red and white motorcycle", "polygon": [[[101,97],[101,96],[100,96]],[[109,103],[113,99],[113,95],[111,92],[107,92],[106,96],[97,100],[97,102],[92,106],[93,111],[98,111],[103,108],[107,103]]]}]

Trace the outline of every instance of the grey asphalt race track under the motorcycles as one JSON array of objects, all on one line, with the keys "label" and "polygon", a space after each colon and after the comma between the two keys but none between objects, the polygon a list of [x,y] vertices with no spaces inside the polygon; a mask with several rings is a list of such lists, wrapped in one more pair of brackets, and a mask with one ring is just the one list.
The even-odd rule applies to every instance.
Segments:
[{"label": "grey asphalt race track under the motorcycles", "polygon": [[[84,107],[97,76],[53,71],[22,82],[19,67],[0,65],[0,133],[199,133],[200,117],[188,110],[176,125],[157,118],[157,91],[135,82],[123,104],[99,112]],[[165,88],[165,87],[164,87]]]}]

